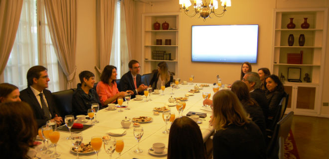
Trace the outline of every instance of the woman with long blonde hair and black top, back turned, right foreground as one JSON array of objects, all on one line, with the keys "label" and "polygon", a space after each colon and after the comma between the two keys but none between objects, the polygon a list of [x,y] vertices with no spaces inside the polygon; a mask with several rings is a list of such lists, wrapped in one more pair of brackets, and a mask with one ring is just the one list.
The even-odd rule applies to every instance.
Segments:
[{"label": "woman with long blonde hair and black top, back turned, right foreground", "polygon": [[[238,97],[230,90],[213,96],[211,123],[213,159],[265,159],[266,146],[259,127],[247,117]],[[171,131],[171,130],[170,130]]]}]

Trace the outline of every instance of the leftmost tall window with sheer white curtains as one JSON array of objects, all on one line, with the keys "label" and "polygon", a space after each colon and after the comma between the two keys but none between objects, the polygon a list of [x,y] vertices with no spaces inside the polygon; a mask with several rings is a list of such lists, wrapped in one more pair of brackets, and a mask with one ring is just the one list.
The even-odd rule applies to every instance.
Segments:
[{"label": "leftmost tall window with sheer white curtains", "polygon": [[52,46],[42,2],[42,0],[23,1],[16,39],[4,69],[4,82],[16,85],[19,90],[27,87],[26,73],[35,65],[42,65],[48,69],[50,78],[48,89],[59,90],[57,57]]}]

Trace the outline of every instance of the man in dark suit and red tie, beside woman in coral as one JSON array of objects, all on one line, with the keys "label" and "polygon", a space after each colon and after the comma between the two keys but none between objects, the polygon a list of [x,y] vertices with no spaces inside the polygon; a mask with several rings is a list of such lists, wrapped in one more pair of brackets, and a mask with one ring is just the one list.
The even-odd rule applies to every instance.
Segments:
[{"label": "man in dark suit and red tie, beside woman in coral", "polygon": [[132,98],[135,98],[137,94],[143,95],[144,90],[148,88],[147,85],[142,83],[141,75],[139,75],[141,67],[140,63],[136,60],[132,60],[128,64],[129,72],[123,75],[120,79],[120,91],[132,90]]}]

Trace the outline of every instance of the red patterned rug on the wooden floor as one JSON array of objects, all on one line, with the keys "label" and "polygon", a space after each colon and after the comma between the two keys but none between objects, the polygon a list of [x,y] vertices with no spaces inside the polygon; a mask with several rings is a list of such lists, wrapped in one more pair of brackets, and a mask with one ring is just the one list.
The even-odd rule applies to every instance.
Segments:
[{"label": "red patterned rug on the wooden floor", "polygon": [[290,130],[289,135],[285,141],[285,155],[284,159],[300,159],[298,155],[297,146],[293,136],[293,132]]}]

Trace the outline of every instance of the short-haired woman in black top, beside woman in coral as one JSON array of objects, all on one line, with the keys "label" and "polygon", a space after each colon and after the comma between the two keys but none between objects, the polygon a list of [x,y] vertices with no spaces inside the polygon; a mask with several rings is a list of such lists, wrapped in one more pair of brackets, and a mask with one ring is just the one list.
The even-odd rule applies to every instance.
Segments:
[{"label": "short-haired woman in black top, beside woman in coral", "polygon": [[97,103],[102,106],[99,96],[94,87],[95,75],[90,71],[83,71],[79,74],[81,83],[78,83],[72,96],[72,112],[73,115],[87,115],[91,104]]}]

